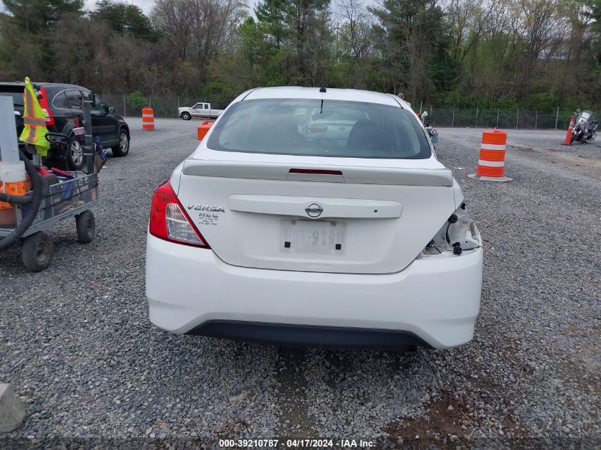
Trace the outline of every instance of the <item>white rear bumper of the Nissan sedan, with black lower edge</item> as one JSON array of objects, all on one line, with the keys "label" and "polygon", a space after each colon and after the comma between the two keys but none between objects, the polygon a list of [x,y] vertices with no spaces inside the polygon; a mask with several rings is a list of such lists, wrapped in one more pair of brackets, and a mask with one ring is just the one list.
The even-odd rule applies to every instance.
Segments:
[{"label": "white rear bumper of the Nissan sedan, with black lower edge", "polygon": [[[295,334],[296,327],[284,333],[286,326],[321,327],[326,334],[328,328],[347,328],[357,334],[349,338],[353,346],[360,344],[359,334],[374,345],[368,338],[374,331],[388,333],[391,345],[395,333],[434,348],[461,345],[473,337],[482,289],[482,249],[415,259],[396,274],[327,274],[235,267],[211,250],[149,235],[146,268],[149,315],[156,326],[178,334],[300,345],[314,344],[304,339],[306,332]],[[208,325],[211,321],[216,324]],[[223,321],[260,324],[263,331],[256,326],[233,331]]]}]

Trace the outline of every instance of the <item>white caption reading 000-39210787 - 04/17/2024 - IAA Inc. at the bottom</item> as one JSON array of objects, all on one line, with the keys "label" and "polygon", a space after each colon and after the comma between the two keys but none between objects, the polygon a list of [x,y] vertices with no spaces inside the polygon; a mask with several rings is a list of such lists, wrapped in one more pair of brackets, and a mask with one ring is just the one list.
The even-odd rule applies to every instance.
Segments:
[{"label": "white caption reading 000-39210787 - 04/17/2024 - IAA Inc. at the bottom", "polygon": [[219,446],[226,449],[368,449],[373,447],[373,442],[363,439],[220,439]]}]

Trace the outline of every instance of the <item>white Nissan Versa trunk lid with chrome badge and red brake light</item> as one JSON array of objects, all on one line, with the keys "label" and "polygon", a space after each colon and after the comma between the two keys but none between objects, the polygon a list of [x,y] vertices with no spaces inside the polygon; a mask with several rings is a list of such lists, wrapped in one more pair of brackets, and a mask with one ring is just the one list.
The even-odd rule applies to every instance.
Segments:
[{"label": "white Nissan Versa trunk lid with chrome badge and red brake light", "polygon": [[218,153],[186,160],[178,196],[228,264],[399,272],[454,211],[452,173],[435,159],[216,159]]}]

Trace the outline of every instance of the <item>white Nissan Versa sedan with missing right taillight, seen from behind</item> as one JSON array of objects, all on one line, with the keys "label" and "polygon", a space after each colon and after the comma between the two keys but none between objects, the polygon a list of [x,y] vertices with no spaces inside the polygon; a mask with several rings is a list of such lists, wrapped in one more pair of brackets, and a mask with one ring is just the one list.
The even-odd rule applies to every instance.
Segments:
[{"label": "white Nissan Versa sedan with missing right taillight, seen from behind", "polygon": [[450,348],[474,335],[482,240],[395,95],[235,99],[152,199],[146,289],[171,333]]}]

